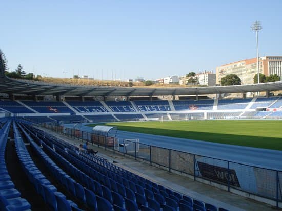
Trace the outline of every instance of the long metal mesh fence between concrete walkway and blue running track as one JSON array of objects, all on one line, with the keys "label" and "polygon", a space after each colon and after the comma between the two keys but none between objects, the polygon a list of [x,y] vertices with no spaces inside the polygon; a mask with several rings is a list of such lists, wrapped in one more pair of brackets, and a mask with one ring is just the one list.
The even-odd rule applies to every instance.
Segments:
[{"label": "long metal mesh fence between concrete walkway and blue running track", "polygon": [[231,189],[254,194],[276,201],[276,207],[282,202],[282,171],[249,166],[213,157],[191,154],[187,152],[140,144],[131,140],[122,140],[114,137],[94,135],[90,132],[80,131],[62,126],[43,124],[58,133],[66,136],[87,140],[105,150],[111,149],[113,153],[120,153],[135,159],[144,160],[150,165],[157,165],[168,171],[175,171],[190,175],[194,180],[206,180]]}]

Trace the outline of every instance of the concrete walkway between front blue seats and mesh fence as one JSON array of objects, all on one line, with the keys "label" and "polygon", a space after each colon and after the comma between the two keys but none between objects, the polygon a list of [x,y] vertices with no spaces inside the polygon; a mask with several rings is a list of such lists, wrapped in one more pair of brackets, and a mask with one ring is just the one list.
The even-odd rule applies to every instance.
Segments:
[{"label": "concrete walkway between front blue seats and mesh fence", "polygon": [[[40,129],[45,130],[46,132],[49,132],[52,135],[76,146],[79,146],[79,144],[83,143],[82,140],[70,138],[46,128]],[[150,165],[147,165],[146,163],[136,161],[134,159],[123,157],[119,154],[113,154],[113,152],[109,150],[105,151],[105,148],[98,148],[94,145],[89,145],[89,147],[95,151],[98,151],[98,156],[103,157],[110,162],[117,162],[115,164],[119,167],[134,172],[137,175],[140,175],[146,179],[150,179],[165,187],[169,187],[176,192],[204,201],[205,203],[210,203],[217,207],[222,207],[230,211],[274,210],[274,208],[268,204],[238,196],[236,194],[220,190],[216,187],[194,181],[184,176],[169,173],[168,171],[152,167]]]}]

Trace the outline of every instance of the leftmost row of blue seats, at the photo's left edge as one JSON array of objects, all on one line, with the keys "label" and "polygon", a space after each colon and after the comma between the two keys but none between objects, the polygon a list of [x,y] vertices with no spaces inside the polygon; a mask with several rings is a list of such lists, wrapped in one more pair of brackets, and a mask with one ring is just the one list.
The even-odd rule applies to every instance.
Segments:
[{"label": "leftmost row of blue seats, at the photo's left edge", "polygon": [[5,163],[5,148],[11,121],[2,128],[0,134],[0,210],[30,210],[28,201],[21,198],[21,193],[15,189]]}]

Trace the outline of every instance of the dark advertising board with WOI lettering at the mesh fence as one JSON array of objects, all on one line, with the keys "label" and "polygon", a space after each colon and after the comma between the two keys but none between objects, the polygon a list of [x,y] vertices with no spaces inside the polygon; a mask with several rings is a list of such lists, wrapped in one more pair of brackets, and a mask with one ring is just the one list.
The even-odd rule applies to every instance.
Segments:
[{"label": "dark advertising board with WOI lettering at the mesh fence", "polygon": [[240,187],[240,183],[234,169],[228,170],[227,168],[210,165],[204,162],[197,162],[197,164],[202,177],[206,177],[208,179],[225,184],[228,184],[229,180],[230,185]]}]

